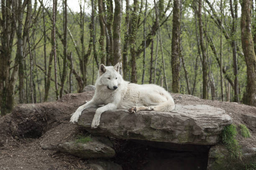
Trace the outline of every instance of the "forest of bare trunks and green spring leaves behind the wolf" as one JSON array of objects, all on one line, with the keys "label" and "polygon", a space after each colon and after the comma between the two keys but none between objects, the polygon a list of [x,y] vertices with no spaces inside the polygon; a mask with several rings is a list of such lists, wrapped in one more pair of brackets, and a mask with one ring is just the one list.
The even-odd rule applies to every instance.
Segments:
[{"label": "forest of bare trunks and green spring leaves behind the wolf", "polygon": [[256,0],[0,2],[1,115],[82,92],[117,62],[131,82],[256,106]]}]

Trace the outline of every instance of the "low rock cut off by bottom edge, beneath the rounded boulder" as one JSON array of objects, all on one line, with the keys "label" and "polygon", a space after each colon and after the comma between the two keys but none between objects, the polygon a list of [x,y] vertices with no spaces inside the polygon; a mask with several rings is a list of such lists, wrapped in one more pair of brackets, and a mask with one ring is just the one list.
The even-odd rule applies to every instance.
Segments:
[{"label": "low rock cut off by bottom edge, beneath the rounded boulder", "polygon": [[105,160],[89,160],[88,164],[92,170],[123,170],[120,165]]}]

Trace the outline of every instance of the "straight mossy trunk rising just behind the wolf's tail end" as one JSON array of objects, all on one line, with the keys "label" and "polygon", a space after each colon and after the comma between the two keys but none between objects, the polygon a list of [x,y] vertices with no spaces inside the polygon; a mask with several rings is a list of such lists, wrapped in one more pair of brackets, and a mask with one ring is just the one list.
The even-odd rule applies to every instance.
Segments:
[{"label": "straight mossy trunk rising just behind the wolf's tail end", "polygon": [[174,0],[174,10],[172,19],[172,92],[179,93],[179,35],[180,35],[180,5],[179,0]]}]

